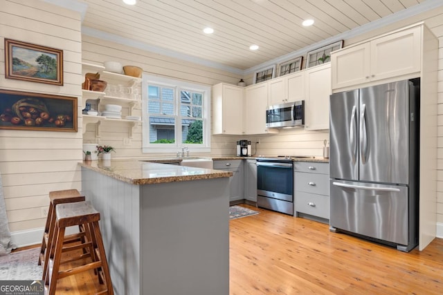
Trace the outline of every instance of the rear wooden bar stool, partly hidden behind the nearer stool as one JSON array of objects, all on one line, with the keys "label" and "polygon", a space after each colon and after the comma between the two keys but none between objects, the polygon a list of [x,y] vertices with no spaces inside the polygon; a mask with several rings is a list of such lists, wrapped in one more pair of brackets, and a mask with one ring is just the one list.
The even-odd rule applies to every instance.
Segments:
[{"label": "rear wooden bar stool, partly hidden behind the nearer stool", "polygon": [[[44,227],[44,233],[42,238],[42,246],[40,248],[39,263],[42,265],[43,271],[47,268],[45,261],[46,249],[51,246],[53,240],[53,232],[55,227],[55,210],[54,208],[57,204],[71,203],[71,202],[82,202],[85,200],[84,196],[80,195],[77,189],[65,189],[63,191],[51,191],[49,192],[49,210],[48,217],[46,218],[46,225]],[[66,236],[66,243],[78,242],[80,240],[84,241],[84,228],[79,227],[80,233]],[[84,254],[87,252],[84,251]]]}]

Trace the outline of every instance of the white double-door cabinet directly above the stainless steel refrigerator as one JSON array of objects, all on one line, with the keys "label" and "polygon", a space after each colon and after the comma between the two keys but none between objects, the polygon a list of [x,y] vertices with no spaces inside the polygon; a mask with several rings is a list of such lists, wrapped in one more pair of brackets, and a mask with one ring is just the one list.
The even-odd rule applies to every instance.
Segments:
[{"label": "white double-door cabinet directly above the stainless steel refrigerator", "polygon": [[395,77],[417,77],[421,44],[422,26],[416,26],[336,50],[331,55],[332,89],[338,92]]}]

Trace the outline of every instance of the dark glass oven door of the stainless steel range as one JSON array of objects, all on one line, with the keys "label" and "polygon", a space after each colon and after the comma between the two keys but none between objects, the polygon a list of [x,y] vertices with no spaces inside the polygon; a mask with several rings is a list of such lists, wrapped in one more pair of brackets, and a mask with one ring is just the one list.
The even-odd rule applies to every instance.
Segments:
[{"label": "dark glass oven door of the stainless steel range", "polygon": [[292,163],[257,162],[257,195],[293,202]]}]

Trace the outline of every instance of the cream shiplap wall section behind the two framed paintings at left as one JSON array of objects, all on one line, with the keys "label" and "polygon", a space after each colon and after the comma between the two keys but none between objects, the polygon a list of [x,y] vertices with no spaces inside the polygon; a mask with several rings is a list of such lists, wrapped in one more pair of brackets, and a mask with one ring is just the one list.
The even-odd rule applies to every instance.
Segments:
[{"label": "cream shiplap wall section behind the two framed paintings at left", "polygon": [[[5,79],[4,38],[62,49],[64,86]],[[37,0],[0,0],[0,88],[80,97],[81,41],[79,13]],[[81,189],[80,119],[77,133],[0,130],[0,173],[13,235],[44,227],[49,191]]]}]

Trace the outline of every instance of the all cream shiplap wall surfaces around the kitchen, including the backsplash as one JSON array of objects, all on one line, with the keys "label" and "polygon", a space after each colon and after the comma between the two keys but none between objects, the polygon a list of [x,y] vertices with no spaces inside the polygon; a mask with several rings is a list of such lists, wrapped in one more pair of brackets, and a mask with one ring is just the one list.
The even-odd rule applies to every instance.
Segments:
[{"label": "all cream shiplap wall surfaces around the kitchen, including the backsplash", "polygon": [[[239,80],[238,75],[222,70],[80,36],[80,15],[42,1],[0,0],[0,8],[0,88],[80,97],[83,79],[80,62],[101,64],[107,60],[141,66],[152,75],[207,85],[219,82],[235,84]],[[345,40],[345,45],[422,20],[440,41],[437,222],[443,225],[443,8]],[[4,79],[4,37],[64,50],[64,86]],[[140,115],[139,112],[140,109],[136,110],[134,115]],[[81,116],[80,108],[78,113]],[[100,142],[116,146],[117,158],[148,158],[141,153],[141,126],[134,129],[131,144],[124,146],[122,137],[127,136],[127,126],[107,124],[109,125],[101,126]],[[86,131],[82,130],[81,117],[78,127],[78,133],[0,130],[0,172],[11,231],[26,231],[44,226],[44,218],[40,214],[41,208],[47,206],[48,191],[81,189],[77,162],[82,158],[82,142],[96,142],[96,139],[93,125],[89,125]],[[328,137],[327,131],[309,132],[300,129],[282,130],[278,135],[215,135],[211,139],[211,155],[235,154],[235,141],[240,139],[260,141],[257,155],[322,155],[323,140]],[[152,154],[150,157],[159,155],[161,154]],[[440,236],[443,236],[443,232],[440,232]]]}]

